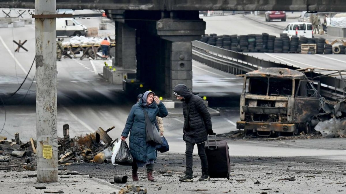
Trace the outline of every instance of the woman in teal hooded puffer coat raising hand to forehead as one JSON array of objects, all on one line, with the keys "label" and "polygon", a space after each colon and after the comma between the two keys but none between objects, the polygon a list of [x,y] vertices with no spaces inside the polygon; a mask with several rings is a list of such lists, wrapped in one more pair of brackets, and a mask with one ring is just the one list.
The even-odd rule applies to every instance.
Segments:
[{"label": "woman in teal hooded puffer coat raising hand to forehead", "polygon": [[138,103],[133,105],[127,117],[126,125],[121,133],[121,140],[125,141],[130,133],[129,148],[134,159],[132,165],[132,180],[138,181],[138,167],[146,165],[148,181],[154,181],[153,167],[156,159],[156,146],[146,143],[145,117],[147,112],[152,124],[156,123],[156,116],[168,115],[165,105],[152,91],[146,91]]}]

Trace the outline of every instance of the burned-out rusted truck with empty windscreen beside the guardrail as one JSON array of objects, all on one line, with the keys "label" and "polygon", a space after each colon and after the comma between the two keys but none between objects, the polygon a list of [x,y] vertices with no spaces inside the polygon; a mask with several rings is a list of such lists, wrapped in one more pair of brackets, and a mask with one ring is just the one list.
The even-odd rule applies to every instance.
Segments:
[{"label": "burned-out rusted truck with empty windscreen beside the guardrail", "polygon": [[[316,88],[315,88],[316,87]],[[319,114],[319,81],[287,68],[264,68],[244,75],[237,129],[269,136],[282,132],[310,133]]]}]

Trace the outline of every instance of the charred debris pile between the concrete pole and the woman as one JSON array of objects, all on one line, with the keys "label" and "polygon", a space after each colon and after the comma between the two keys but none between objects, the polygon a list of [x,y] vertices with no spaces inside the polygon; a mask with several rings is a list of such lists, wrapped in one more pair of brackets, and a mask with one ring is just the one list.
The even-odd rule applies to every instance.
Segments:
[{"label": "charred debris pile between the concrete pole and the woman", "polygon": [[104,131],[99,127],[94,133],[70,138],[69,125],[65,124],[64,137],[58,137],[58,164],[110,163],[113,143],[118,140],[112,140],[107,134],[113,128]]}]

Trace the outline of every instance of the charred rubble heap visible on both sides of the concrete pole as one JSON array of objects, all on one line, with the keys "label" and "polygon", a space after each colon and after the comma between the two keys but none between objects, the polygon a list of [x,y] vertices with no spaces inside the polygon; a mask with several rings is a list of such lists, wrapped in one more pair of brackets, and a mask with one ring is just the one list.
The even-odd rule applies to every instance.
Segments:
[{"label": "charred rubble heap visible on both sides of the concrete pole", "polygon": [[[113,128],[104,131],[99,127],[94,133],[70,138],[69,125],[65,124],[63,126],[64,137],[57,137],[58,164],[110,163],[113,143],[118,140],[118,138],[112,140],[107,134]],[[35,170],[35,165],[31,164],[31,156],[36,158],[36,141],[33,138],[30,138],[27,143],[22,143],[19,133],[16,133],[15,139],[11,140],[0,136],[0,165],[19,159],[23,161],[25,169]]]}]

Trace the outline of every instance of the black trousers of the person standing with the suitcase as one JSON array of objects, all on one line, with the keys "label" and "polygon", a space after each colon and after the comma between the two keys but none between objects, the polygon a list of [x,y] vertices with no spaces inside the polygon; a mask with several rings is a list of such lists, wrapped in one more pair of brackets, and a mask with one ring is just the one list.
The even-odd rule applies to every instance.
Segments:
[{"label": "black trousers of the person standing with the suitcase", "polygon": [[[185,142],[186,149],[185,149],[185,157],[186,157],[186,171],[192,170],[192,152],[194,144]],[[198,155],[201,159],[201,165],[202,165],[202,172],[208,173],[208,160],[206,155],[206,149],[204,148],[204,143],[197,144],[198,149]]]}]

